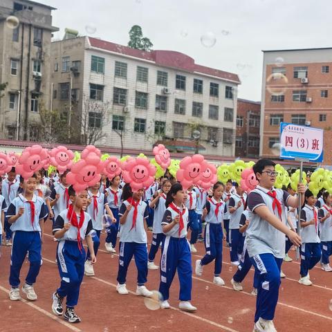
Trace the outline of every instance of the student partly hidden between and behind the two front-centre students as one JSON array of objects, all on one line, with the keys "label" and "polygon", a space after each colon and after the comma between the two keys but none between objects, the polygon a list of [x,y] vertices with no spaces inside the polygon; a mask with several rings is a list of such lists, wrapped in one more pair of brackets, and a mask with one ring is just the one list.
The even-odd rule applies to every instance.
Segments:
[{"label": "student partly hidden between and behind the two front-centre students", "polygon": [[154,209],[154,228],[149,251],[149,262],[147,263],[147,268],[149,268],[149,270],[158,270],[158,266],[154,264],[154,258],[156,257],[160,243],[165,239],[161,221],[166,210],[166,195],[171,187],[171,182],[169,180],[164,180],[160,192],[158,192],[157,196],[150,203],[150,208]]}]

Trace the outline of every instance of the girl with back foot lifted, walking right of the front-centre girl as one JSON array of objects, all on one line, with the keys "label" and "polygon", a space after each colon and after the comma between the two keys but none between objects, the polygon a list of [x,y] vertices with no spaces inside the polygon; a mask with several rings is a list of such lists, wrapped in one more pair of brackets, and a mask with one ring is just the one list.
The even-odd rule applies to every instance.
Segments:
[{"label": "girl with back foot lifted, walking right of the front-centre girl", "polygon": [[203,210],[203,219],[206,221],[204,245],[206,254],[202,259],[196,260],[195,273],[201,276],[203,266],[208,265],[214,260],[214,277],[213,283],[219,286],[225,285],[221,279],[221,267],[223,261],[223,211],[225,203],[222,201],[224,186],[223,183],[217,182],[213,186],[212,198],[208,198]]}]

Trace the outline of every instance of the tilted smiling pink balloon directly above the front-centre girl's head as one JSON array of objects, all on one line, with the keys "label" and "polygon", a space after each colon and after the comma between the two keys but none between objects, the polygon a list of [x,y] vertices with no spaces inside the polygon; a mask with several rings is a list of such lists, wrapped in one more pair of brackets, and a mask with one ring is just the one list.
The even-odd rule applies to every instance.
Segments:
[{"label": "tilted smiling pink balloon directly above the front-centre girl's head", "polygon": [[176,179],[180,181],[183,190],[187,190],[191,185],[199,185],[201,174],[207,168],[208,162],[201,154],[185,157],[180,162],[180,168],[176,172]]}]

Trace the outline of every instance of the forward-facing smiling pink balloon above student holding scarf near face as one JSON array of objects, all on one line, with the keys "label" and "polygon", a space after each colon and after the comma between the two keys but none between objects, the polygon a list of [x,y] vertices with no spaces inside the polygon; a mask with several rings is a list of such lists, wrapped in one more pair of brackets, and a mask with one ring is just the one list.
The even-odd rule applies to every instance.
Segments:
[{"label": "forward-facing smiling pink balloon above student holding scarf near face", "polygon": [[151,165],[149,159],[131,158],[123,167],[122,178],[125,183],[129,183],[133,192],[147,188],[154,183],[156,167]]}]

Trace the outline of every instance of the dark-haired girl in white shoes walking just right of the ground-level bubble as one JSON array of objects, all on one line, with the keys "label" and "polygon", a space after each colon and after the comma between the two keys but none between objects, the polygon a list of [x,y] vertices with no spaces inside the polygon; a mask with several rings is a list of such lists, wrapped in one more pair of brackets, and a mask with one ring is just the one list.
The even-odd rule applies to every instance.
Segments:
[{"label": "dark-haired girl in white shoes walking just right of the ground-level bubble", "polygon": [[176,270],[180,281],[180,303],[183,311],[196,311],[190,300],[192,298],[192,255],[187,242],[188,210],[183,204],[185,193],[180,183],[172,185],[166,199],[166,211],[163,216],[163,254],[160,259],[160,286],[163,296],[161,308],[169,308],[169,288]]}]

